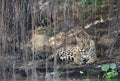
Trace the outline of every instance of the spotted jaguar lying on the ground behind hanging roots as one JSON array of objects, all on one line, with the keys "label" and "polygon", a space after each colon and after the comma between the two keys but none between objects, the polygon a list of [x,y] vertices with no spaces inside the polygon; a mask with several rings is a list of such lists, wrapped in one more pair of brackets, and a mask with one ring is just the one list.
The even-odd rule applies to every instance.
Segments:
[{"label": "spotted jaguar lying on the ground behind hanging roots", "polygon": [[95,42],[89,36],[80,35],[75,38],[76,45],[61,47],[53,55],[63,62],[94,63],[97,60]]}]

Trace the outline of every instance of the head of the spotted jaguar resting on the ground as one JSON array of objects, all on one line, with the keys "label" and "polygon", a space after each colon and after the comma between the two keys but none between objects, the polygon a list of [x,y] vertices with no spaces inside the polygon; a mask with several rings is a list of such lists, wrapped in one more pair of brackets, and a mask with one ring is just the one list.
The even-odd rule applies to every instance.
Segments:
[{"label": "head of the spotted jaguar resting on the ground", "polygon": [[88,62],[91,58],[92,54],[94,54],[95,51],[95,43],[92,39],[89,37],[77,37],[76,36],[76,42],[78,45],[78,51],[81,56],[82,62]]}]

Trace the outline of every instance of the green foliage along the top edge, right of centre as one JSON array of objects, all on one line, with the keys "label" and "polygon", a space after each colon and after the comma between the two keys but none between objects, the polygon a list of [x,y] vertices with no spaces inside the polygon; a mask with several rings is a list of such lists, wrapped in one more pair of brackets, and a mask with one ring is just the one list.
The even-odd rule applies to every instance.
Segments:
[{"label": "green foliage along the top edge, right of centre", "polygon": [[[81,17],[88,17],[92,9],[95,11],[98,11],[99,8],[106,2],[106,0],[76,0],[75,2],[78,3],[80,8],[84,8],[83,12],[81,13]],[[58,3],[60,4],[66,4],[66,6],[71,7],[73,3],[73,0],[58,0]]]}]

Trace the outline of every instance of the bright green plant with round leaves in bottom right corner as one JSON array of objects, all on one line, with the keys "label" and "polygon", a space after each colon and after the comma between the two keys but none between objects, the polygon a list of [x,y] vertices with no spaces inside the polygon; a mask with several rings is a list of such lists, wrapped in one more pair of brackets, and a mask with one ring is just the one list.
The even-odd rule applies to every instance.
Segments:
[{"label": "bright green plant with round leaves in bottom right corner", "polygon": [[106,79],[112,79],[118,76],[118,72],[116,71],[116,64],[104,64],[101,67],[102,71],[104,71],[104,76]]}]

